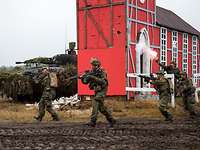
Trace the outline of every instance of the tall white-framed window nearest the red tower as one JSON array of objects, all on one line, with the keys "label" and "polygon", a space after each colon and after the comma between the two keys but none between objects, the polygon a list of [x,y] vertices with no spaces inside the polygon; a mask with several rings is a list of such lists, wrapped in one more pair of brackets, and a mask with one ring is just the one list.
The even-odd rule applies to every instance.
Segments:
[{"label": "tall white-framed window nearest the red tower", "polygon": [[160,62],[167,65],[167,28],[160,28]]}]

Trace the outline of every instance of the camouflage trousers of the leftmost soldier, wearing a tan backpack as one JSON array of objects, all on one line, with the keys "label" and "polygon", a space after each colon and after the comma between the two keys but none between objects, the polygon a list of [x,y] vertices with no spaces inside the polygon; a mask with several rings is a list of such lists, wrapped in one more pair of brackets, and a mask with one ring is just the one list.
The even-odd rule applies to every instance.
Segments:
[{"label": "camouflage trousers of the leftmost soldier, wearing a tan backpack", "polygon": [[55,97],[54,91],[44,92],[42,98],[39,102],[39,113],[38,113],[38,120],[42,120],[45,115],[45,109],[51,114],[53,119],[58,119],[58,115],[53,110],[52,107],[52,99]]}]

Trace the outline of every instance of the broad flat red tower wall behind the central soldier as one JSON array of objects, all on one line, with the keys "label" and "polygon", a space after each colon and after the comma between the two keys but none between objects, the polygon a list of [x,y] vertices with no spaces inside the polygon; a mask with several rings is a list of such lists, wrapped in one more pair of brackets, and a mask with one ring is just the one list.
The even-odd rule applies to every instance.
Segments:
[{"label": "broad flat red tower wall behind the central soldier", "polygon": [[[113,3],[118,2],[123,2],[123,0],[113,0]],[[86,11],[82,10],[82,8],[86,6],[84,0],[77,0],[77,3],[79,6],[77,10],[79,49],[78,71],[83,72],[84,70],[90,69],[91,57],[99,58],[102,67],[108,74],[108,95],[125,95],[125,5],[121,4],[113,6],[113,10],[110,7],[90,9],[87,12],[89,15],[86,16]],[[99,5],[105,6],[107,4],[107,0],[88,0],[87,6],[95,7]],[[111,16],[112,11],[113,16]],[[91,19],[91,15],[93,19]],[[94,23],[94,20],[96,23]],[[101,33],[99,32],[99,29],[101,30]],[[102,36],[102,33],[104,34],[104,37]],[[112,43],[111,47],[106,44],[105,39]],[[92,94],[92,91],[79,81],[78,94],[88,95]]]}]

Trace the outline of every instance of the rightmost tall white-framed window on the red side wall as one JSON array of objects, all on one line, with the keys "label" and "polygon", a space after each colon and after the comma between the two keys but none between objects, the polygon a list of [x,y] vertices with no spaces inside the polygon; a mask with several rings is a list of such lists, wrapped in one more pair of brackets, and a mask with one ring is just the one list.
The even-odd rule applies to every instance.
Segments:
[{"label": "rightmost tall white-framed window on the red side wall", "polygon": [[[192,37],[192,74],[197,73],[197,37]],[[194,80],[197,83],[197,79]]]}]

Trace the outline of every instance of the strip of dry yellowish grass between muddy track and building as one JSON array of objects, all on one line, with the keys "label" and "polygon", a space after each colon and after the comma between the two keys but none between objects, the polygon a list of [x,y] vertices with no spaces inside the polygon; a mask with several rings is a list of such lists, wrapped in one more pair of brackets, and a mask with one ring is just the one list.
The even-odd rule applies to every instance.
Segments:
[{"label": "strip of dry yellowish grass between muddy track and building", "polygon": [[[81,109],[70,109],[57,111],[59,117],[64,122],[86,122],[90,118],[91,101],[82,102]],[[105,105],[112,111],[115,118],[163,118],[158,110],[158,101],[156,100],[137,100],[125,101],[116,99],[105,100]],[[84,108],[85,107],[85,108]],[[200,104],[196,105],[199,110]],[[176,108],[170,109],[175,118],[188,116],[188,112],[183,109],[181,99],[177,99]],[[36,108],[27,109],[24,104],[11,103],[6,100],[0,99],[0,122],[19,122],[31,123],[33,117],[37,115]],[[46,112],[44,122],[51,120],[51,116]],[[99,120],[104,121],[105,117],[99,113]]]}]

